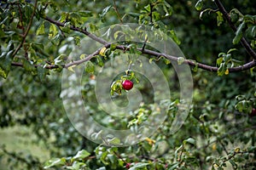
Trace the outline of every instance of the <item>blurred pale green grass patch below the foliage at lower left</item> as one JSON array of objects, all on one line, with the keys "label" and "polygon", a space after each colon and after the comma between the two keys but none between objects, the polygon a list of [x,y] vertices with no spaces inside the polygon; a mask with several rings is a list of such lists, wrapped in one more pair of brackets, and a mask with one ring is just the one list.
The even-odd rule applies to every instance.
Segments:
[{"label": "blurred pale green grass patch below the foliage at lower left", "polygon": [[[0,128],[0,146],[5,145],[9,152],[20,153],[20,156],[37,156],[41,162],[49,159],[49,151],[44,144],[38,144],[37,137],[29,127],[8,127]],[[3,150],[0,149],[0,170],[8,169],[8,158]]]}]

